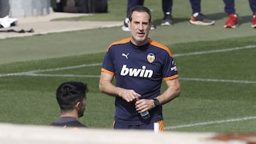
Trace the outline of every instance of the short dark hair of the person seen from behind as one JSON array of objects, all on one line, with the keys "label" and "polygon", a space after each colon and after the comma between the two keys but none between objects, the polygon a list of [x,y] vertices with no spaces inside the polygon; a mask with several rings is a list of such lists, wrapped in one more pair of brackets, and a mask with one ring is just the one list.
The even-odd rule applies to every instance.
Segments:
[{"label": "short dark hair of the person seen from behind", "polygon": [[75,104],[86,99],[87,84],[83,82],[63,82],[56,91],[56,99],[61,111],[75,109]]}]

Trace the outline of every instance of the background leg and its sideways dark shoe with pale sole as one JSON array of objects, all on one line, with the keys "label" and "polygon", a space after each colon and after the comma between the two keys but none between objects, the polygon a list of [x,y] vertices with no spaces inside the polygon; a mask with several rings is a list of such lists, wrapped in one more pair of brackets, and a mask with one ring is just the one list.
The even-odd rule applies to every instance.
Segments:
[{"label": "background leg and its sideways dark shoe with pale sole", "polygon": [[189,23],[200,26],[213,25],[214,21],[207,18],[201,12],[201,0],[189,0],[191,3],[192,16]]}]

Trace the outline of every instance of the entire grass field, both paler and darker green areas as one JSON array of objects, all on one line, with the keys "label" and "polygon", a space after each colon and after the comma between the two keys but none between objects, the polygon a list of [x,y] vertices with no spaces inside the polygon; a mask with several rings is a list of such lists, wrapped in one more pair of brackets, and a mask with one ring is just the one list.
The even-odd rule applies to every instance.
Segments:
[{"label": "entire grass field, both paler and darker green areas", "polygon": [[[178,8],[189,6],[188,1],[175,2],[178,23],[151,31],[151,38],[174,53],[181,76],[181,96],[164,105],[166,130],[256,132],[256,35],[248,21],[247,1],[238,1],[244,19],[235,29],[222,28],[222,1],[202,2],[206,13],[216,18],[215,26],[210,27],[188,25],[190,9]],[[160,3],[154,3],[146,4],[154,9],[157,24]],[[110,0],[109,4],[110,20],[122,20],[122,14],[113,11],[119,5],[125,7],[125,2]],[[106,15],[89,20],[94,18],[104,20]],[[78,21],[84,20],[88,19]],[[90,89],[82,123],[90,128],[112,128],[114,98],[98,90],[100,68],[107,46],[127,36],[129,33],[114,27],[0,40],[0,122],[48,125],[60,112],[55,89],[61,82],[75,80],[87,82]]]}]

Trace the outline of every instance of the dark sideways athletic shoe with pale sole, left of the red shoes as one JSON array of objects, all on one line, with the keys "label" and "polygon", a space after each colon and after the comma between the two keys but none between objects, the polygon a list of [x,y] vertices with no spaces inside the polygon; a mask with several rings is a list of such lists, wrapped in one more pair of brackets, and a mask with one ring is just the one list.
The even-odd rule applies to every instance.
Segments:
[{"label": "dark sideways athletic shoe with pale sole, left of the red shoes", "polygon": [[204,16],[203,13],[194,13],[189,23],[199,26],[209,26],[213,25],[214,21]]}]

